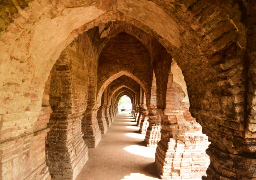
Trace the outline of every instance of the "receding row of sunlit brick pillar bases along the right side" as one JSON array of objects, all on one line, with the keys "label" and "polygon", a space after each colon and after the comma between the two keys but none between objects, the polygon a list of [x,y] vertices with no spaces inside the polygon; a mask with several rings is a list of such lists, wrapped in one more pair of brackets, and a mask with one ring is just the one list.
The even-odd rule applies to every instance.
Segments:
[{"label": "receding row of sunlit brick pillar bases along the right side", "polygon": [[201,178],[210,159],[209,142],[202,127],[188,109],[156,109],[154,105],[133,105],[132,116],[146,134],[145,145],[157,147],[155,164],[163,179]]}]

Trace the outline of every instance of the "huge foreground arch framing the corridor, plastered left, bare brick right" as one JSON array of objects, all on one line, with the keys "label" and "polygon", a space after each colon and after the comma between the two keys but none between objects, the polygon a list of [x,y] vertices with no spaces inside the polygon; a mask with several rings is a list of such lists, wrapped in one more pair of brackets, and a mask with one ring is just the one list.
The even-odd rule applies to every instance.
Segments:
[{"label": "huge foreground arch framing the corridor, plastered left, bare brick right", "polygon": [[[124,3],[125,2],[126,1],[124,1]],[[63,8],[58,8],[50,4],[47,5],[49,13],[43,13],[43,11],[47,11],[45,8],[42,8],[45,4],[33,1],[33,3],[30,4],[31,6],[24,10],[24,12],[28,14],[24,14],[24,12],[20,13],[25,19],[28,18],[26,24],[24,24],[23,17],[18,16],[10,28],[1,34],[0,46],[3,51],[3,53],[1,53],[3,57],[1,58],[3,62],[1,72],[6,73],[6,76],[1,79],[1,82],[4,82],[6,87],[1,90],[0,93],[3,100],[1,101],[3,102],[1,109],[3,118],[5,118],[4,116],[7,113],[7,117],[10,118],[9,115],[12,113],[24,112],[27,111],[26,109],[29,109],[31,112],[37,112],[38,115],[41,109],[44,83],[50,73],[50,69],[52,69],[53,64],[56,62],[56,59],[64,47],[70,44],[74,37],[78,36],[78,33],[82,33],[88,30],[88,28],[100,24],[100,22],[125,19],[127,22],[134,21],[133,23],[136,24],[136,26],[143,26],[142,29],[151,32],[154,36],[160,35],[159,41],[164,44],[164,47],[166,47],[168,51],[174,53],[174,58],[177,60],[182,71],[184,71],[185,79],[192,79],[186,81],[190,82],[188,84],[188,93],[191,99],[190,109],[194,117],[204,123],[207,133],[219,135],[216,137],[218,140],[220,138],[227,140],[221,135],[221,132],[210,132],[211,128],[207,128],[214,127],[216,123],[221,129],[236,133],[235,138],[234,136],[228,137],[227,144],[236,144],[239,146],[237,147],[239,150],[234,149],[232,145],[230,145],[228,150],[223,148],[221,150],[227,152],[225,157],[230,159],[228,153],[238,153],[241,155],[243,151],[248,153],[254,152],[255,148],[248,150],[244,149],[244,146],[249,147],[255,135],[253,133],[249,137],[240,135],[240,131],[244,131],[246,127],[244,124],[246,124],[247,118],[246,113],[243,112],[243,106],[247,105],[245,99],[248,95],[247,90],[244,90],[246,88],[248,89],[248,87],[244,85],[247,84],[245,82],[247,80],[244,80],[243,77],[243,74],[246,74],[246,67],[244,67],[246,60],[242,57],[244,53],[243,48],[246,48],[246,29],[244,26],[246,23],[244,21],[246,20],[243,19],[246,19],[247,14],[246,12],[242,12],[242,10],[240,11],[240,7],[242,9],[244,4],[238,1],[239,4],[234,2],[234,4],[230,4],[232,6],[228,6],[229,4],[224,2],[223,4],[221,3],[221,7],[218,7],[219,3],[215,1],[192,0],[182,1],[184,4],[179,4],[178,2],[170,3],[168,7],[164,7],[165,3],[158,1],[154,1],[158,5],[154,4],[154,2],[150,2],[150,6],[147,6],[148,4],[143,6],[143,3],[145,5],[148,1],[141,0],[139,2],[142,3],[138,3],[138,1],[128,2],[135,4],[136,8],[134,14],[139,12],[138,9],[140,8],[144,10],[144,12],[148,12],[148,8],[151,10],[154,9],[150,8],[152,3],[152,6],[157,6],[158,8],[162,6],[162,9],[160,9],[160,11],[156,10],[156,13],[166,11],[166,14],[170,14],[170,16],[176,20],[173,27],[180,27],[180,32],[174,35],[183,38],[183,40],[179,41],[182,42],[182,45],[179,46],[178,44],[177,46],[175,42],[168,42],[170,37],[165,38],[164,35],[161,36],[162,34],[168,35],[169,29],[173,28],[172,26],[166,33],[160,33],[158,28],[152,28],[155,21],[151,21],[151,19],[154,16],[149,17],[149,19],[148,17],[145,18],[149,22],[144,22],[145,20],[143,21],[143,17],[141,17],[142,15],[140,13],[137,13],[140,15],[138,17],[127,16],[132,14],[130,10],[124,8],[127,4],[121,3],[118,6],[121,7],[120,11],[124,16],[119,13],[114,15],[109,13],[108,18],[106,18],[104,15],[107,14],[107,10],[99,4],[97,5],[100,8],[97,8],[98,6],[81,7],[80,4],[62,4],[60,6]],[[143,9],[143,7],[146,8]],[[154,15],[156,15],[156,13],[154,13]],[[42,16],[38,16],[38,14]],[[53,16],[50,16],[50,14]],[[162,18],[162,14],[160,15],[161,16],[158,17]],[[48,16],[50,16],[50,18]],[[94,21],[94,18],[97,20]],[[78,21],[72,21],[74,19]],[[242,22],[240,22],[240,20]],[[60,22],[60,26],[58,22]],[[214,22],[218,23],[215,24]],[[176,26],[177,23],[178,26]],[[184,23],[185,26],[182,25],[182,23]],[[20,26],[22,24],[24,24],[24,26]],[[82,26],[83,24],[84,26]],[[158,24],[166,26],[166,22],[156,23],[157,26]],[[212,24],[216,26],[212,26]],[[227,26],[223,28],[225,24]],[[27,29],[27,32],[23,31],[21,27]],[[224,30],[223,32],[218,31],[222,29]],[[163,30],[166,30],[166,28],[163,27]],[[182,37],[180,37],[180,34]],[[196,35],[194,36],[194,34]],[[19,38],[17,39],[17,37]],[[27,46],[29,46],[29,48],[27,48]],[[179,48],[176,47],[182,48],[179,50]],[[182,53],[179,54],[181,51]],[[19,59],[20,61],[12,61],[13,64],[10,65],[10,59]],[[20,62],[25,62],[22,63],[22,71],[25,70],[26,75],[22,76],[20,74]],[[191,67],[188,68],[189,66]],[[206,73],[202,73],[203,69]],[[234,75],[233,73],[225,73],[225,71],[236,71],[236,73]],[[7,77],[9,74],[12,74],[11,78]],[[196,85],[193,85],[193,79]],[[26,81],[26,83],[24,83],[24,81]],[[252,82],[252,80],[248,81]],[[14,95],[17,86],[22,87],[20,95]],[[240,87],[240,89],[237,91],[235,87]],[[252,87],[252,85],[250,87]],[[26,95],[26,93],[31,91],[32,94],[35,95],[33,95],[33,97],[37,96],[38,99],[30,100],[30,97],[23,96],[24,93]],[[9,97],[13,99],[9,99]],[[211,103],[209,103],[209,101]],[[16,102],[18,102],[17,105],[15,105]],[[30,104],[29,107],[27,107],[28,103]],[[211,107],[209,104],[211,104]],[[13,105],[15,105],[15,107],[13,107]],[[28,116],[25,113],[19,115],[21,117]],[[4,129],[2,122],[1,124],[2,129]],[[15,137],[16,135],[10,138]],[[5,136],[2,136],[1,140],[2,138],[5,138]],[[230,142],[230,139],[232,139],[232,142]],[[216,143],[216,147],[218,147],[218,143]],[[214,152],[214,150],[212,151]],[[241,157],[241,159],[243,158]],[[218,160],[219,158],[216,156],[214,159]],[[234,160],[234,162],[237,161],[234,158],[232,158],[232,160]],[[239,166],[242,167],[241,165]],[[211,170],[216,171],[214,168]],[[239,168],[234,170],[234,174],[239,174],[238,171]],[[246,169],[245,172],[249,171],[250,170]],[[242,176],[243,175],[240,174],[234,178],[241,178]],[[255,176],[252,175],[250,175],[250,177],[255,178]]]}]

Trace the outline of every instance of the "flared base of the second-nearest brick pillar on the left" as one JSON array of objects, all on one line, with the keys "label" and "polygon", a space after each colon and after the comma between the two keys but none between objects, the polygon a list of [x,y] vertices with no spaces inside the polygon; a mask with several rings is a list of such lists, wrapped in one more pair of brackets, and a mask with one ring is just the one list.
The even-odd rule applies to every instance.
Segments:
[{"label": "flared base of the second-nearest brick pillar on the left", "polygon": [[88,109],[82,120],[82,132],[84,141],[89,148],[95,148],[101,140],[100,127],[97,120],[98,108]]}]

